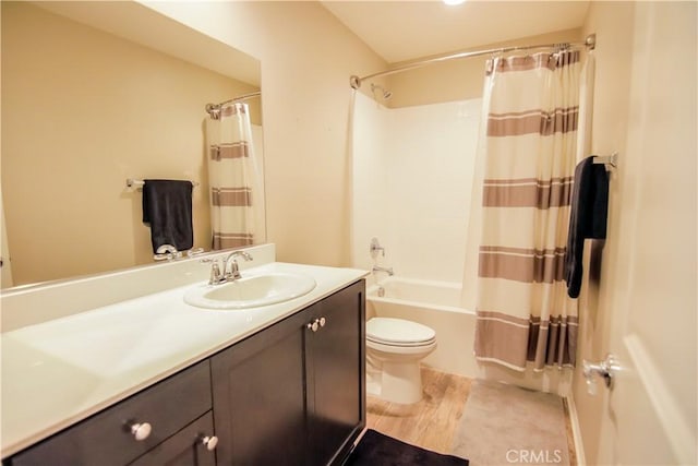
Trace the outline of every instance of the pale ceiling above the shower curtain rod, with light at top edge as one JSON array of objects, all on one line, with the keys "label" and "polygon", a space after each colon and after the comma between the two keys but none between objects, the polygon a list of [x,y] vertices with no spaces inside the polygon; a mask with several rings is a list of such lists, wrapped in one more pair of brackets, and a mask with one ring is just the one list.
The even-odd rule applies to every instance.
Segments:
[{"label": "pale ceiling above the shower curtain rod, with light at top edge", "polygon": [[322,1],[388,63],[571,29],[589,1]]}]

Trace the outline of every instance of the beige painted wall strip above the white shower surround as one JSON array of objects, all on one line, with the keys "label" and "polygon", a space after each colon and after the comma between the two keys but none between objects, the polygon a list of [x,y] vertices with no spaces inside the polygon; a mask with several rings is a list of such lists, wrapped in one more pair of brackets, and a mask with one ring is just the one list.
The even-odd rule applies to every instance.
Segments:
[{"label": "beige painted wall strip above the white shower surround", "polygon": [[[567,29],[517,40],[489,44],[478,47],[476,50],[537,44],[574,43],[582,39],[583,36],[581,36],[580,29]],[[393,97],[384,104],[394,108],[482,97],[484,64],[490,58],[489,56],[482,56],[450,60],[388,75],[385,77],[385,86],[393,92]],[[399,65],[399,63],[395,63],[395,65]],[[370,89],[371,81],[364,83],[363,87]]]}]

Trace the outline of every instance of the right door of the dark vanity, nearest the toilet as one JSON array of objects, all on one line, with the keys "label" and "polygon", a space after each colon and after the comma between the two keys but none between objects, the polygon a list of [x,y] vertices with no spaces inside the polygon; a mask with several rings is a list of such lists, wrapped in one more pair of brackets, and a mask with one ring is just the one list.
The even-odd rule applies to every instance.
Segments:
[{"label": "right door of the dark vanity, nearest the toilet", "polygon": [[340,464],[365,426],[364,292],[361,280],[329,296],[306,331],[311,465]]}]

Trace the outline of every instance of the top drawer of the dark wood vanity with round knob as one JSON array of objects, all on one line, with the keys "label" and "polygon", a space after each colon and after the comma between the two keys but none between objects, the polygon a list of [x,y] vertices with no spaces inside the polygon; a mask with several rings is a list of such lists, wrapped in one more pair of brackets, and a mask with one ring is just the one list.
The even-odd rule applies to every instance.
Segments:
[{"label": "top drawer of the dark wood vanity with round knob", "polygon": [[[12,457],[12,465],[124,465],[212,408],[208,361],[179,372]],[[141,441],[129,428],[151,427]],[[140,432],[145,434],[147,427]]]}]

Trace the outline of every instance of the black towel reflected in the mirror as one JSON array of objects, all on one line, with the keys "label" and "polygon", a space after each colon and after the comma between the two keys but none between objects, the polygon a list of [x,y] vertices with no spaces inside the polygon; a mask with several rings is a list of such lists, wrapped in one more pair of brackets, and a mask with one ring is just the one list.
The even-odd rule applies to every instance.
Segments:
[{"label": "black towel reflected in the mirror", "polygon": [[163,244],[178,251],[192,249],[192,183],[177,180],[145,180],[143,223],[151,224],[153,252]]}]

